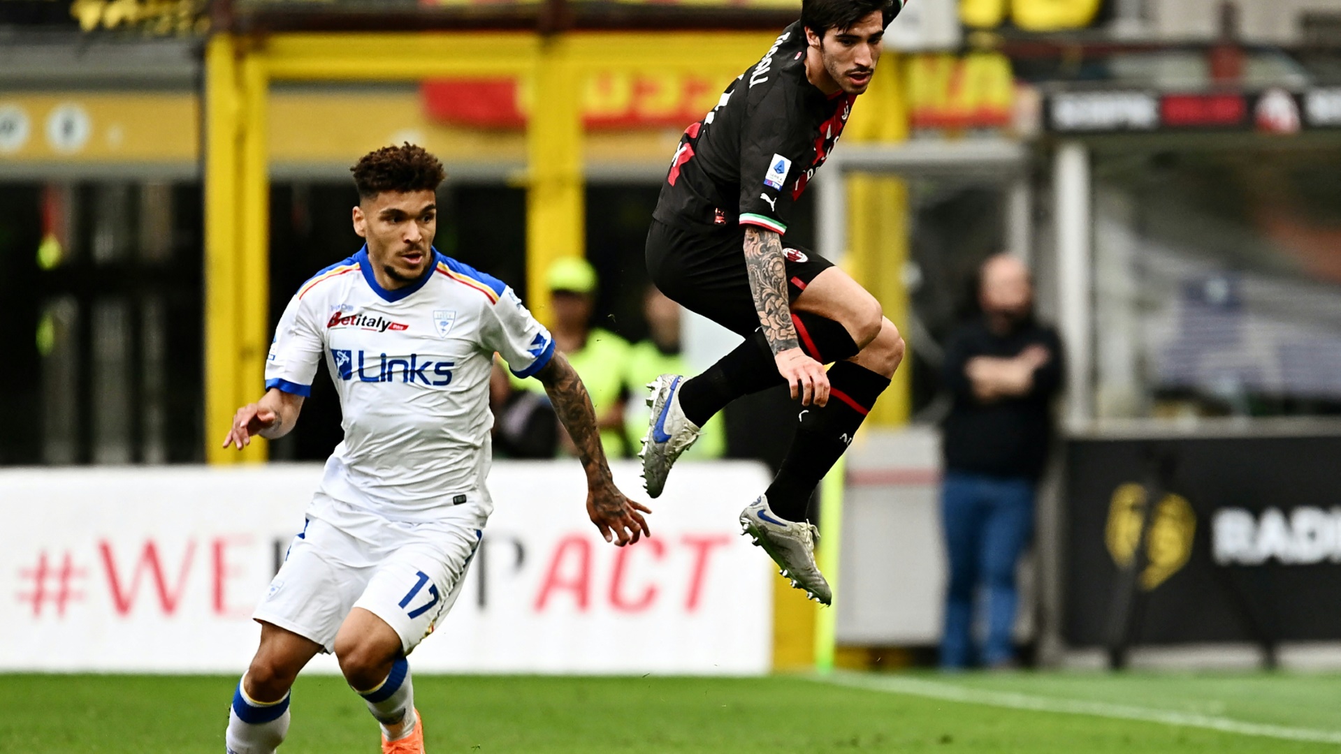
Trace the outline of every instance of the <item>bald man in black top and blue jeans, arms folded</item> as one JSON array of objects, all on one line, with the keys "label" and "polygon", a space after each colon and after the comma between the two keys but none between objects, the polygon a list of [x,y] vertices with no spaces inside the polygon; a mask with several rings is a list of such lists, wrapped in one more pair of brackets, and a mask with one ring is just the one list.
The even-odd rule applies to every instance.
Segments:
[{"label": "bald man in black top and blue jeans, arms folded", "polygon": [[[982,316],[945,350],[955,396],[945,419],[941,513],[949,584],[943,668],[975,659],[1015,664],[1015,567],[1034,532],[1034,493],[1051,438],[1051,399],[1062,375],[1057,331],[1034,320],[1029,269],[996,254],[979,271]],[[975,658],[974,597],[987,596],[987,644]]]}]

